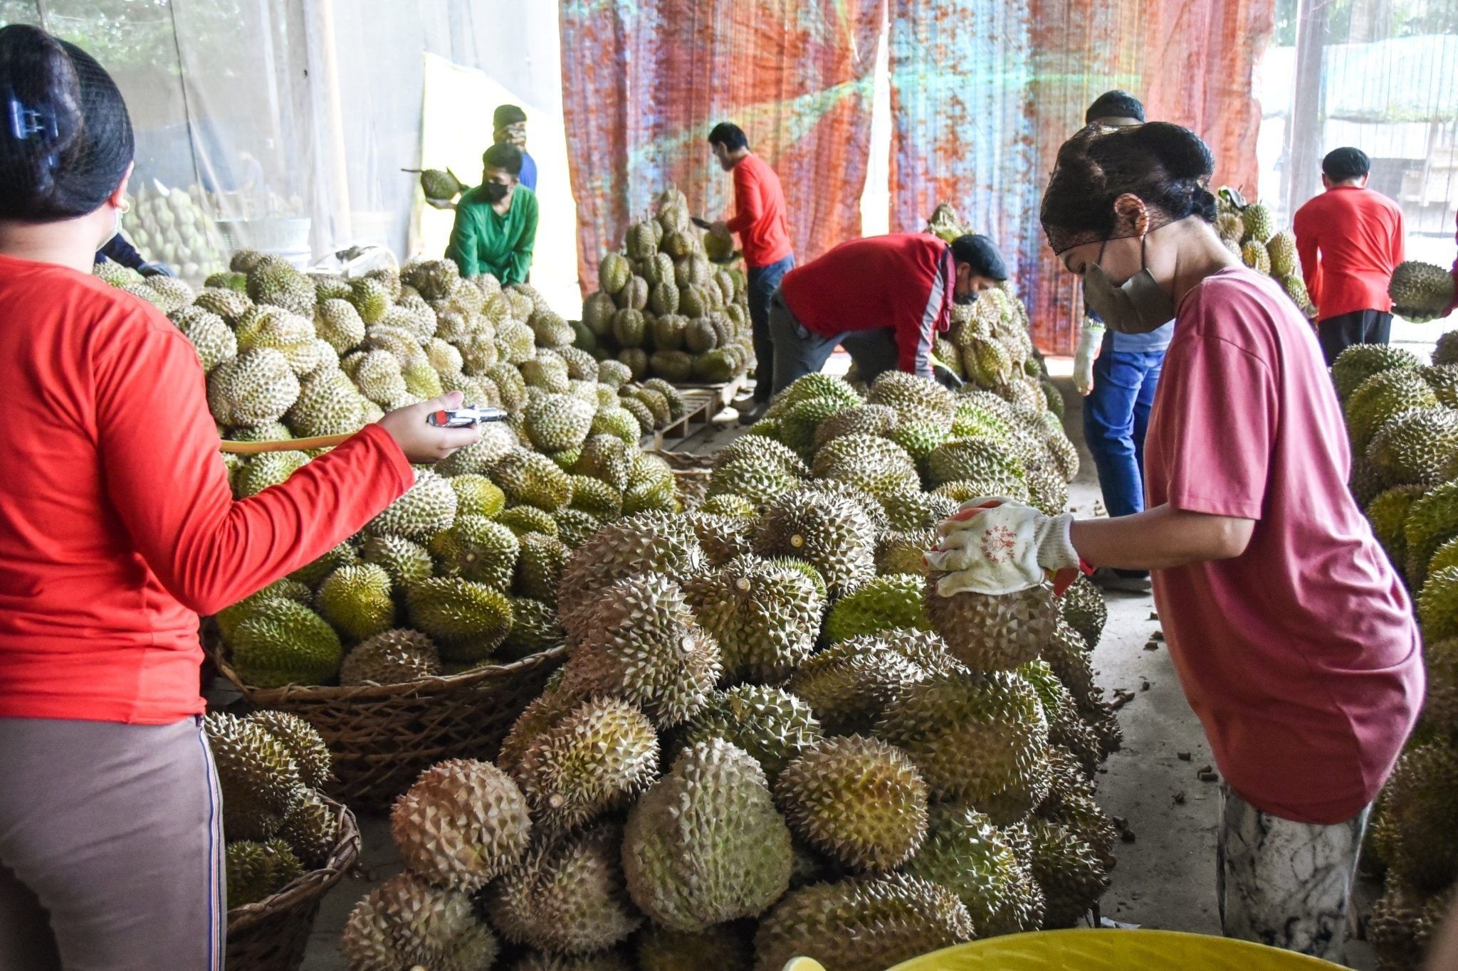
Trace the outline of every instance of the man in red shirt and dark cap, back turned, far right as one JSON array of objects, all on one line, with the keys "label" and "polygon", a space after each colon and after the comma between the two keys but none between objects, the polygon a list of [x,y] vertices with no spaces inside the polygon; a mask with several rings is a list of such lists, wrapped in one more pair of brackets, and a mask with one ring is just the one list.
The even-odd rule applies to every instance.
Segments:
[{"label": "man in red shirt and dark cap, back turned, far right", "polygon": [[1353,344],[1387,344],[1392,329],[1387,288],[1403,262],[1403,210],[1366,188],[1371,169],[1360,148],[1327,153],[1327,191],[1296,210],[1296,252],[1328,367]]}]

